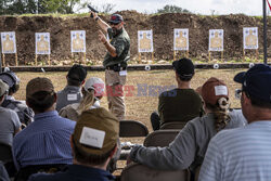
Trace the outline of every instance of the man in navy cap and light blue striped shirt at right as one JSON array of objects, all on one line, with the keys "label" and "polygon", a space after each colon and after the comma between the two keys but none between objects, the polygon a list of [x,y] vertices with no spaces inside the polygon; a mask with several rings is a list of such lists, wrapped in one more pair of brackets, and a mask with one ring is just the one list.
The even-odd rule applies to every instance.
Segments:
[{"label": "man in navy cap and light blue striped shirt at right", "polygon": [[271,67],[240,73],[242,112],[248,125],[219,132],[209,143],[199,181],[271,180]]}]

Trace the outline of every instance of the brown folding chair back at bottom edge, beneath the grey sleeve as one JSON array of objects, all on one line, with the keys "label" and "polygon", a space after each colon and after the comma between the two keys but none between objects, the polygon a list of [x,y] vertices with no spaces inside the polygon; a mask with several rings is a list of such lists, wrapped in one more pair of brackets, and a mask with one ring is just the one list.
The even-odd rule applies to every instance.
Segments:
[{"label": "brown folding chair back at bottom edge, beneath the grey sleeve", "polygon": [[127,166],[120,181],[190,181],[189,170],[155,170],[140,164]]}]

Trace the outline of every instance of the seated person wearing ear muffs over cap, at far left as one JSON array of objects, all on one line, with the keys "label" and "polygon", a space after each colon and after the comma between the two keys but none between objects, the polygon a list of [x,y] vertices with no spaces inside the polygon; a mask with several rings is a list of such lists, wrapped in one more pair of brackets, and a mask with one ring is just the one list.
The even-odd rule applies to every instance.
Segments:
[{"label": "seated person wearing ear muffs over cap, at far left", "polygon": [[0,74],[0,79],[9,86],[9,94],[5,96],[2,107],[13,109],[17,113],[20,121],[27,126],[33,121],[34,112],[22,101],[14,99],[13,94],[18,91],[20,79],[13,72],[3,72]]}]

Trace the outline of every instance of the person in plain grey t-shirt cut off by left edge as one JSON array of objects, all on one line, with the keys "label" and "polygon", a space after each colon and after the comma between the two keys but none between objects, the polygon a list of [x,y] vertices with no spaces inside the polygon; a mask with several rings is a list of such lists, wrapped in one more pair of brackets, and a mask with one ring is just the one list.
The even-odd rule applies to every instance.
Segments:
[{"label": "person in plain grey t-shirt cut off by left edge", "polygon": [[[9,86],[0,79],[0,105],[2,104]],[[0,143],[12,146],[13,137],[21,130],[21,122],[17,114],[10,109],[0,106]]]}]

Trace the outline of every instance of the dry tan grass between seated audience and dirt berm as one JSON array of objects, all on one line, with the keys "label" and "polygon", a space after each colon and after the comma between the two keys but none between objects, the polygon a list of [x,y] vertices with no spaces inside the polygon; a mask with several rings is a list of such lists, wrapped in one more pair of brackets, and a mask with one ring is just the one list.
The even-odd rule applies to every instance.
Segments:
[{"label": "dry tan grass between seated audience and dirt berm", "polygon": [[[203,85],[209,77],[218,77],[223,79],[230,90],[230,96],[232,101],[232,107],[240,107],[238,100],[234,99],[234,90],[240,88],[240,85],[233,81],[233,77],[236,73],[243,69],[197,69],[195,77],[192,81],[192,88],[196,89]],[[25,100],[25,87],[26,83],[38,76],[50,78],[55,90],[63,89],[66,85],[66,73],[17,73],[21,78],[21,89],[16,93],[15,98]],[[104,80],[103,72],[89,72],[88,77],[101,77]],[[153,111],[157,109],[158,91],[157,95],[153,95],[151,89],[149,89],[147,95],[138,96],[138,85],[147,86],[176,86],[173,70],[151,70],[151,72],[129,72],[126,86],[133,86],[134,90],[131,92],[132,96],[126,96],[127,119],[139,120],[146,125],[150,131],[152,131],[150,115]],[[150,88],[150,87],[149,87]],[[128,93],[128,91],[126,91]],[[150,95],[149,95],[150,94]],[[102,106],[107,107],[106,98],[102,99]]]}]

